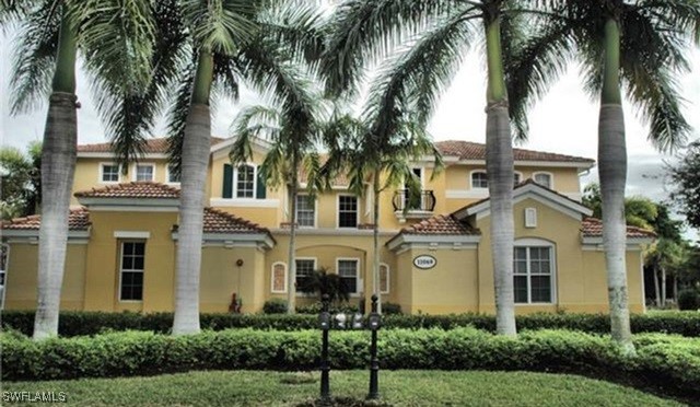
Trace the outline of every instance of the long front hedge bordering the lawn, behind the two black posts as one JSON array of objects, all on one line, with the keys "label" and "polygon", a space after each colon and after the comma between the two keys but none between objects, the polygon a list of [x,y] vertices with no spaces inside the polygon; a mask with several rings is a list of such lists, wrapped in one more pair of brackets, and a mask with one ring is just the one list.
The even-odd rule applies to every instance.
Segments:
[{"label": "long front hedge bordering the lawn, behind the two black posts", "polygon": [[[364,369],[368,332],[330,335],[332,369]],[[564,330],[526,332],[518,338],[475,328],[392,329],[378,336],[383,369],[527,370],[579,373],[653,385],[700,399],[700,339],[660,334],[634,337],[625,356],[605,336]],[[211,369],[315,370],[318,330],[228,329],[191,336],[144,332],[33,341],[0,336],[2,379],[55,380],[145,375]]]}]

